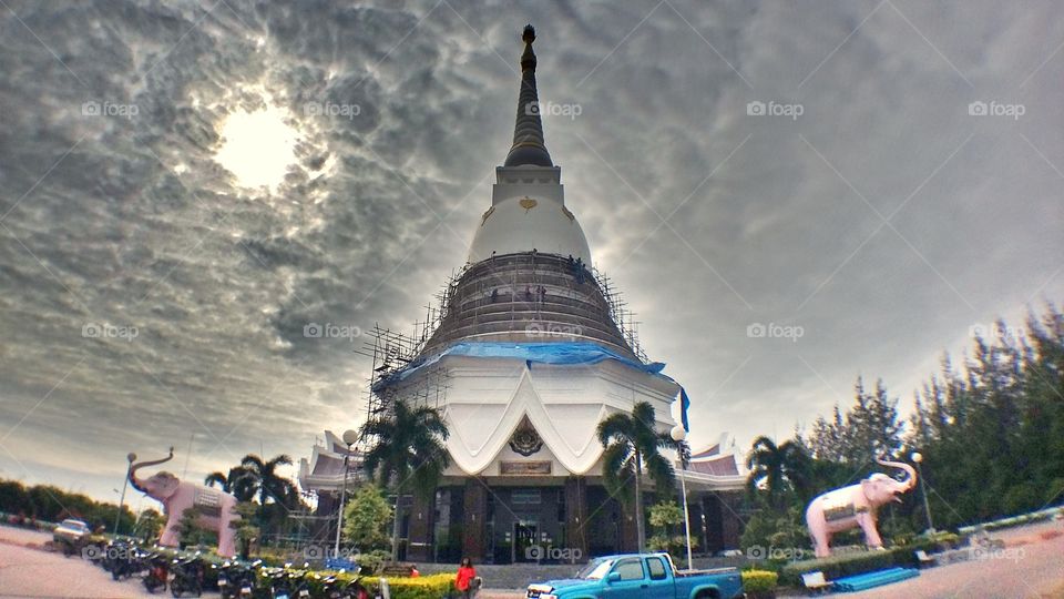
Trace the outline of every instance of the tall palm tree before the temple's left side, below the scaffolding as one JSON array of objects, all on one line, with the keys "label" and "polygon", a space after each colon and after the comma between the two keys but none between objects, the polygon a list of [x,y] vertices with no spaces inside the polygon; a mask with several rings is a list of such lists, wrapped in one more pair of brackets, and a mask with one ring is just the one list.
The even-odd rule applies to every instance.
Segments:
[{"label": "tall palm tree before the temple's left side, below the scaffolding", "polygon": [[420,497],[436,493],[440,476],[450,464],[442,443],[450,432],[438,409],[395,402],[389,410],[362,425],[360,435],[374,439],[362,458],[366,473],[396,494],[391,559],[398,560],[403,491],[412,484]]}]

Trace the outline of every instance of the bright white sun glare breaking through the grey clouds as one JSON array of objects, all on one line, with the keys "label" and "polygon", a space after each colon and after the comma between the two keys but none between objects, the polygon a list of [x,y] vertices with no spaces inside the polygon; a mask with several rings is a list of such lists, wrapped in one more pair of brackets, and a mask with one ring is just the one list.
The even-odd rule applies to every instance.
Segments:
[{"label": "bright white sun glare breaking through the grey clouds", "polygon": [[222,123],[222,148],[214,160],[236,175],[243,187],[275,189],[296,162],[298,132],[279,108],[234,112]]}]

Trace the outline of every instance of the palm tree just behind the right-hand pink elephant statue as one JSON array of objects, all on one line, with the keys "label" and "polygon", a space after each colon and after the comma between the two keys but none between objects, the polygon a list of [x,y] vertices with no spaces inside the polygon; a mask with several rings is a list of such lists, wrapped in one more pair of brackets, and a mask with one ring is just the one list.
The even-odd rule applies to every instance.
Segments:
[{"label": "palm tree just behind the right-hand pink elephant statue", "polygon": [[794,439],[778,446],[765,436],[754,439],[746,458],[746,467],[750,470],[750,491],[764,483],[769,505],[776,508],[782,508],[784,497],[789,490],[798,491],[799,500],[807,499],[809,461],[805,448]]}]

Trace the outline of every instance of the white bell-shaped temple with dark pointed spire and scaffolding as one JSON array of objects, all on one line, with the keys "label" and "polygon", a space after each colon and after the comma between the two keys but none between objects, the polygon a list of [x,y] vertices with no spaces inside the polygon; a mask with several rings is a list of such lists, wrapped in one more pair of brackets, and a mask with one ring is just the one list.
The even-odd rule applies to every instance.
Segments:
[{"label": "white bell-shaped temple with dark pointed spire and scaffolding", "polygon": [[[683,388],[646,358],[616,292],[591,266],[580,203],[566,204],[543,135],[531,26],[522,40],[513,144],[491,204],[471,223],[467,263],[420,333],[378,331],[370,349],[369,416],[395,402],[421,403],[438,407],[450,430],[450,466],[434,497],[401,498],[410,560],[510,564],[635,550],[634,510],[603,486],[597,424],[648,402],[661,432],[677,423],[698,432]],[[318,491],[319,512],[336,509],[347,450],[327,437],[299,474]],[[698,551],[737,547],[745,477],[726,440],[694,453],[686,470],[677,464],[677,476]]]}]

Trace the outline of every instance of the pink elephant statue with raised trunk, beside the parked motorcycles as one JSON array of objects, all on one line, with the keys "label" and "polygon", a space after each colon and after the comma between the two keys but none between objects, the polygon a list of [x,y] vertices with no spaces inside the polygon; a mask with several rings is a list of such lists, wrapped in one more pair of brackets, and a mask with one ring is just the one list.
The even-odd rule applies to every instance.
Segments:
[{"label": "pink elephant statue with raised trunk, beside the parked motorcycles", "polygon": [[200,511],[198,524],[204,528],[218,532],[218,555],[224,557],[236,556],[234,537],[236,530],[229,526],[241,518],[233,510],[236,498],[218,489],[181,481],[176,476],[162,471],[147,478],[137,478],[136,471],[145,466],[155,466],[174,458],[174,448],[170,455],[154,461],[137,461],[130,466],[130,484],[133,488],[163,504],[166,514],[166,526],[158,538],[158,544],[167,547],[177,547],[181,541],[180,524],[185,510],[196,508]]}]

